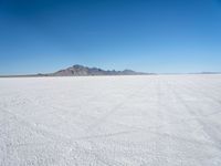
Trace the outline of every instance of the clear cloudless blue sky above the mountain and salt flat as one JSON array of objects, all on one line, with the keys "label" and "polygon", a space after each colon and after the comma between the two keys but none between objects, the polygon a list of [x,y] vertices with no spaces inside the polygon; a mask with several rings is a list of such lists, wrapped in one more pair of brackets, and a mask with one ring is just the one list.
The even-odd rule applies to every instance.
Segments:
[{"label": "clear cloudless blue sky above the mountain and salt flat", "polygon": [[73,64],[221,72],[221,0],[0,0],[0,74]]}]

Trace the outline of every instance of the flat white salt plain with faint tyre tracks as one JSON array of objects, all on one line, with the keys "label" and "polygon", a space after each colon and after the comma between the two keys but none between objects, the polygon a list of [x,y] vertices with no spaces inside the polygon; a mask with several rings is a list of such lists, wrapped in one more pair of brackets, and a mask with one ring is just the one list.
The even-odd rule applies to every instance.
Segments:
[{"label": "flat white salt plain with faint tyre tracks", "polygon": [[1,166],[220,166],[221,75],[0,79]]}]

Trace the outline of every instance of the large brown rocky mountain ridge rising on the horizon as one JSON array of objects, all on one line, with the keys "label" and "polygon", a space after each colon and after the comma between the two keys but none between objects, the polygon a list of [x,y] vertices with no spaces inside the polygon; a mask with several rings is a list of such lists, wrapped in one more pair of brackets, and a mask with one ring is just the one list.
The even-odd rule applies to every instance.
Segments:
[{"label": "large brown rocky mountain ridge rising on the horizon", "polygon": [[[45,76],[87,76],[87,75],[145,75],[147,73],[135,72],[131,70],[115,71],[102,70],[98,68],[88,68],[83,65],[73,65],[71,68],[60,70],[55,73],[46,74]],[[44,74],[43,74],[44,75]]]}]

